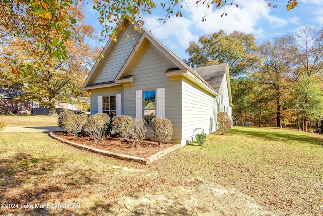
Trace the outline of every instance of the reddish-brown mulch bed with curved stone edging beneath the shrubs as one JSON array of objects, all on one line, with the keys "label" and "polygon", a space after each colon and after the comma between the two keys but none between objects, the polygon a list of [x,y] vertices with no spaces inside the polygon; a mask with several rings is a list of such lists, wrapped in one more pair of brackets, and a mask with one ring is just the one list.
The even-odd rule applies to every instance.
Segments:
[{"label": "reddish-brown mulch bed with curved stone edging beneath the shrubs", "polygon": [[124,142],[119,137],[109,137],[104,143],[95,141],[91,137],[75,137],[64,132],[55,132],[56,136],[61,137],[67,141],[75,142],[92,148],[97,148],[109,152],[126,154],[135,157],[148,158],[164,149],[167,149],[174,144],[161,143],[158,146],[157,142],[151,140],[144,140],[139,147],[130,146],[127,142]]}]

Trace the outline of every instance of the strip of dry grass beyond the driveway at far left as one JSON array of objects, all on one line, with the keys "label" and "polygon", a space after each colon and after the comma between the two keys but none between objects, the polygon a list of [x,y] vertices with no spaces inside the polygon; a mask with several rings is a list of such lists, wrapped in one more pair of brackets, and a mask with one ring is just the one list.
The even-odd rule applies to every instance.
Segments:
[{"label": "strip of dry grass beyond the driveway at far left", "polygon": [[8,127],[57,126],[57,116],[0,115],[0,122],[5,122]]}]

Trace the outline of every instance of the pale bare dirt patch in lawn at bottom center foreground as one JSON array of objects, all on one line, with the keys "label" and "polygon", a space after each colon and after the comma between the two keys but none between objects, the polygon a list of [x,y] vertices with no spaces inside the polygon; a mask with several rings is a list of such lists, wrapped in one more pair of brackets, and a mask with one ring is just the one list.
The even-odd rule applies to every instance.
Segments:
[{"label": "pale bare dirt patch in lawn at bottom center foreground", "polygon": [[98,215],[276,215],[252,197],[214,183],[165,187],[155,193],[137,191],[112,200],[90,196],[72,202],[81,203],[81,208],[73,212],[76,214],[81,213],[81,209],[83,213],[90,212],[94,205],[100,206]]}]

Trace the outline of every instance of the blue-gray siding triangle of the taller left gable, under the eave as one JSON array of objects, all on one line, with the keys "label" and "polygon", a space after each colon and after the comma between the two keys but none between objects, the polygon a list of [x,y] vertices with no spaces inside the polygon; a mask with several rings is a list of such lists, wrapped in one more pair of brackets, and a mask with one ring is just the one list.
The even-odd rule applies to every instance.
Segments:
[{"label": "blue-gray siding triangle of the taller left gable, under the eave", "polygon": [[[126,62],[129,54],[133,50],[133,45],[136,44],[136,40],[129,38],[125,40],[125,35],[129,35],[131,33],[130,26],[126,29],[116,48],[114,49],[113,53],[107,60],[106,64],[104,65],[101,73],[97,77],[94,83],[101,83],[107,81],[113,81],[117,74],[119,73],[121,67]],[[136,39],[139,39],[140,33],[135,31],[133,33]],[[103,61],[103,60],[101,60]]]}]

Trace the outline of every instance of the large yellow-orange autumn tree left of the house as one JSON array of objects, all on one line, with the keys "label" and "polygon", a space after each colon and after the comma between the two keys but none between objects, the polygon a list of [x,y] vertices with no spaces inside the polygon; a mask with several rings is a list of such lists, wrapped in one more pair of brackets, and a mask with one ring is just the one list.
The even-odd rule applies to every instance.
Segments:
[{"label": "large yellow-orange autumn tree left of the house", "polygon": [[[73,98],[87,96],[82,91],[82,85],[96,55],[96,51],[84,42],[86,36],[92,35],[93,28],[83,22],[81,5],[70,6],[69,10],[68,15],[78,22],[71,29],[75,37],[64,42],[68,52],[64,59],[49,54],[41,55],[37,44],[26,37],[2,41],[3,50],[11,53],[11,57],[0,61],[0,83],[22,89],[26,93],[23,99],[44,101],[50,114],[55,114],[56,102],[72,102]],[[29,64],[33,64],[29,68],[33,72],[20,74],[20,69]]]}]

